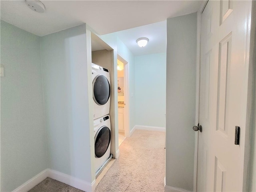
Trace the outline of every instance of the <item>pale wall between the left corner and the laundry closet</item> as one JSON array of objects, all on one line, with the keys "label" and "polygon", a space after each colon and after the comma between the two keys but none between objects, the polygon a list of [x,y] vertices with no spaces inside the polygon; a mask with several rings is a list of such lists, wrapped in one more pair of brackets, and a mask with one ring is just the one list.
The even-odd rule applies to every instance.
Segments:
[{"label": "pale wall between the left corner and the laundry closet", "polygon": [[86,25],[40,43],[48,167],[91,183]]}]

